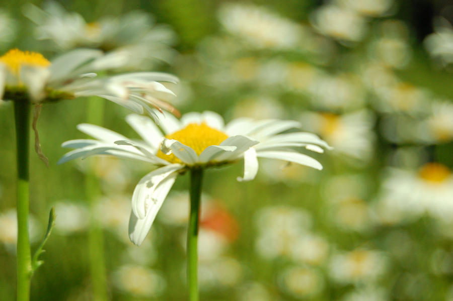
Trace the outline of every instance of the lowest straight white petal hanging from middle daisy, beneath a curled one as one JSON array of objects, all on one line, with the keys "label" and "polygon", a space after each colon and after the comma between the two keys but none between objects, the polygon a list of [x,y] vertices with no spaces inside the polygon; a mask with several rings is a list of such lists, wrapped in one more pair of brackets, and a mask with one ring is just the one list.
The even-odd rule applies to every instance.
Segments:
[{"label": "lowest straight white petal hanging from middle daisy, beneath a curled one", "polygon": [[159,209],[162,207],[168,192],[175,182],[177,173],[168,176],[154,191],[155,202],[152,202],[144,219],[138,219],[133,211],[129,219],[129,238],[137,246],[141,245],[153,225]]}]

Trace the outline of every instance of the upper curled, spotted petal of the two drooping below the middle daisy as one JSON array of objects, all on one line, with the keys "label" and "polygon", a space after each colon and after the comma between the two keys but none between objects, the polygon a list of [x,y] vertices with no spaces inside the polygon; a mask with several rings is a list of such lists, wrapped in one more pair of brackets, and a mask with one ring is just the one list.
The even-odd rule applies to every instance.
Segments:
[{"label": "upper curled, spotted petal of the two drooping below the middle daisy", "polygon": [[[171,164],[158,168],[141,178],[132,194],[132,212],[138,219],[144,219],[149,210],[158,202],[154,192],[170,175],[183,168],[181,164]],[[176,173],[174,175],[176,177]]]}]

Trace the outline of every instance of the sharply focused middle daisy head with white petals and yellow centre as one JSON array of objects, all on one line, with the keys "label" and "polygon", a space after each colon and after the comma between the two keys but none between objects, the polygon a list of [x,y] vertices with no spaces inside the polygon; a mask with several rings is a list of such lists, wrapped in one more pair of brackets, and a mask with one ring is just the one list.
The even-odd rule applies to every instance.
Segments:
[{"label": "sharply focused middle daisy head with white petals and yellow centre", "polygon": [[322,147],[330,148],[311,133],[280,134],[298,128],[300,125],[295,121],[242,118],[225,126],[223,119],[213,112],[189,113],[181,121],[168,113],[163,115],[160,126],[165,136],[152,120],[129,115],[127,122],[144,141],[136,142],[95,125],[81,124],[79,130],[97,140],[78,139],[62,145],[75,150],[66,153],[59,163],[108,154],[160,166],[139,181],[132,195],[129,237],[137,245],[145,238],[178,174],[244,158],[244,176],[238,180],[252,180],[258,171],[258,157],[322,169],[317,160],[300,149],[322,153]]}]

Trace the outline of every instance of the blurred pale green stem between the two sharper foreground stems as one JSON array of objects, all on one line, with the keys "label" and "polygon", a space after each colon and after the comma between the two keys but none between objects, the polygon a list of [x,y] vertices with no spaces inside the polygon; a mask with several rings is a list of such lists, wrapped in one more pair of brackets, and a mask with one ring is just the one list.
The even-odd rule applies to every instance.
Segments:
[{"label": "blurred pale green stem between the two sharper foreground stems", "polygon": [[[104,116],[104,101],[99,97],[87,99],[88,123],[101,125]],[[88,252],[90,261],[90,274],[93,285],[93,301],[106,301],[107,279],[104,259],[104,235],[95,218],[96,200],[101,194],[99,180],[93,170],[91,160],[87,176],[85,178],[85,191],[90,209],[90,229],[88,231]]]}]

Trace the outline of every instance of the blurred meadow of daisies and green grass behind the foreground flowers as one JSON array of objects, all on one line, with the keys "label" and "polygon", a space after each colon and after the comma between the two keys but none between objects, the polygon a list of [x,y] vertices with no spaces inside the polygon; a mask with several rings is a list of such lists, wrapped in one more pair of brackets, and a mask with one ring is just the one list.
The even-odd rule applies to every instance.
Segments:
[{"label": "blurred meadow of daisies and green grass behind the foreground flowers", "polygon": [[[251,182],[236,181],[241,164],[206,172],[202,300],[451,301],[451,22],[453,1],[444,0],[2,0],[0,53],[131,51],[135,60],[109,72],[176,74],[181,113],[297,120],[335,148],[317,157],[322,171],[261,160]],[[109,157],[56,165],[62,142],[84,138],[75,126],[87,122],[87,104],[45,104],[38,121],[50,166],[31,153],[32,251],[52,206],[57,219],[32,300],[94,299],[92,223],[101,229],[105,272],[96,277],[105,275],[108,299],[183,300],[187,175],[134,246],[130,198],[152,166]],[[136,137],[124,122],[130,112],[108,102],[99,110],[99,125]],[[0,104],[0,135],[0,300],[13,300],[9,102]],[[97,183],[89,197],[87,174]]]}]

